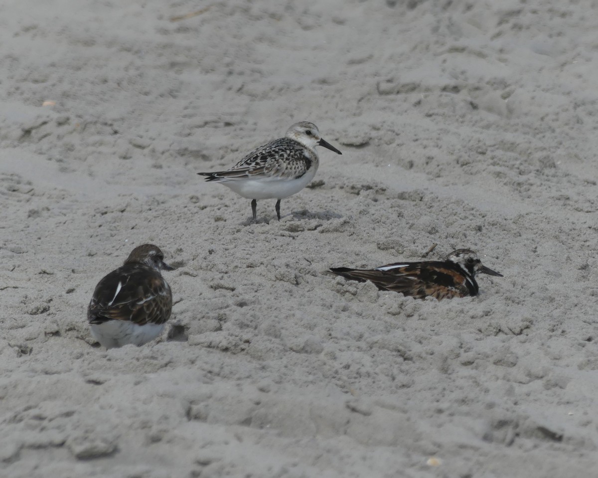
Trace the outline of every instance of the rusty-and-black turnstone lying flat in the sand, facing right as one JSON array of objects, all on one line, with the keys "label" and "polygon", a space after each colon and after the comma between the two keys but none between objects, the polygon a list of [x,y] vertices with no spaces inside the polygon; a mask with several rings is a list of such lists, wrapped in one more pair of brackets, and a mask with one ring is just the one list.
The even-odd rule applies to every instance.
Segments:
[{"label": "rusty-and-black turnstone lying flat in the sand, facing right", "polygon": [[444,261],[396,262],[374,270],[338,267],[331,271],[345,279],[369,280],[380,291],[401,292],[405,297],[416,299],[431,296],[438,300],[478,295],[476,273],[502,277],[482,265],[475,252],[469,249],[453,250]]}]

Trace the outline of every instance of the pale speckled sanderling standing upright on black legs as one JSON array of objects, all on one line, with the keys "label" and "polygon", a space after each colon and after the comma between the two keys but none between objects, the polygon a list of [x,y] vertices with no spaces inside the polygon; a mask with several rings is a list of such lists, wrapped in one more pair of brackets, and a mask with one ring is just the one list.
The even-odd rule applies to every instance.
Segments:
[{"label": "pale speckled sanderling standing upright on black legs", "polygon": [[257,199],[278,199],[276,216],[280,220],[280,200],[306,187],[318,171],[319,159],[315,150],[318,145],[342,154],[322,140],[316,125],[302,121],[292,125],[284,138],[252,151],[230,170],[197,174],[251,199],[254,222],[257,222]]}]

